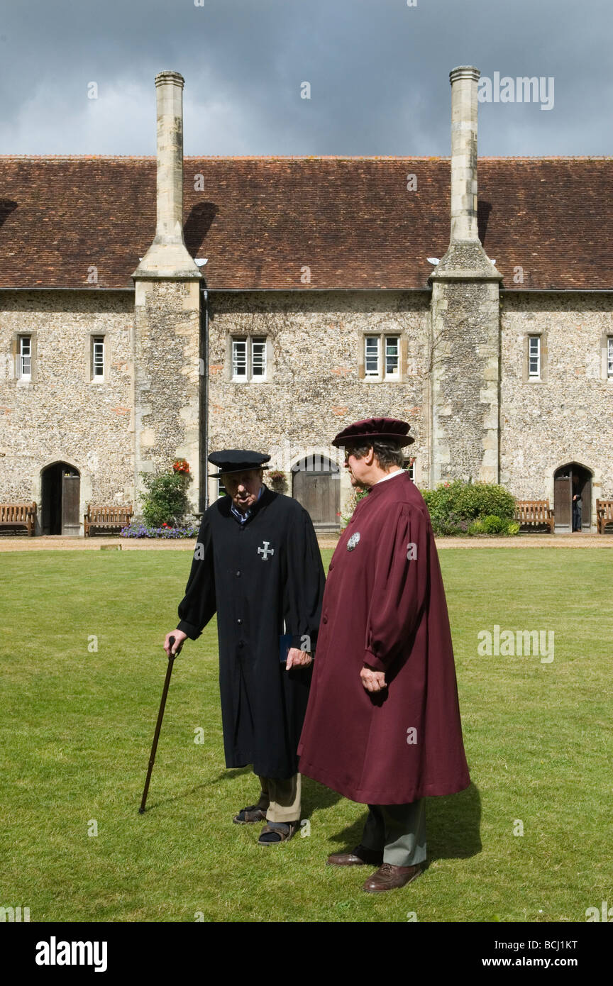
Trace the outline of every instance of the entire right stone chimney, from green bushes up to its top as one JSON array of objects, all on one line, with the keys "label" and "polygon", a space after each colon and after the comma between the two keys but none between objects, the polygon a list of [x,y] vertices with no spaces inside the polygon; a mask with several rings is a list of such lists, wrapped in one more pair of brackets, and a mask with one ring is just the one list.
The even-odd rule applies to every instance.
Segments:
[{"label": "entire right stone chimney, from green bushes up to its top", "polygon": [[451,233],[431,274],[430,445],[432,486],[499,482],[500,291],[502,275],[477,225],[478,69],[451,82]]}]

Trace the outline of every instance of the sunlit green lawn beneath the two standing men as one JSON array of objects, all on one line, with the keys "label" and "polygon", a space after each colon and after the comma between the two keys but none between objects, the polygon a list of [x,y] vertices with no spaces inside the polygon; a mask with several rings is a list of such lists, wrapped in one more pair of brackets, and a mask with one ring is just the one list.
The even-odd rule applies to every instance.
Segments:
[{"label": "sunlit green lawn beneath the two standing men", "polygon": [[[0,564],[0,906],[32,921],[580,922],[613,902],[613,551],[441,552],[472,785],[428,800],[429,869],[381,895],[361,889],[371,870],[324,865],[358,841],[364,806],[306,780],[307,837],[266,849],[259,825],[232,823],[257,782],[224,766],[214,625],[176,661],[138,813],[189,553]],[[553,629],[554,661],[479,657],[494,624]]]}]

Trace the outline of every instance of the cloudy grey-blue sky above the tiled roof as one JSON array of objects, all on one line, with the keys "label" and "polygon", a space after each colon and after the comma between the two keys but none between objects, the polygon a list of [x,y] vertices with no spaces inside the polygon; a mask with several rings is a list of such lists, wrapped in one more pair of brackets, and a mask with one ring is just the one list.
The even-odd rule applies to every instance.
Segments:
[{"label": "cloudy grey-blue sky above the tiled roof", "polygon": [[[185,79],[185,155],[448,155],[457,65],[482,74],[480,156],[613,154],[611,0],[1,0],[0,13],[1,154],[154,155],[154,79],[170,69]],[[518,102],[524,76],[538,92]]]}]

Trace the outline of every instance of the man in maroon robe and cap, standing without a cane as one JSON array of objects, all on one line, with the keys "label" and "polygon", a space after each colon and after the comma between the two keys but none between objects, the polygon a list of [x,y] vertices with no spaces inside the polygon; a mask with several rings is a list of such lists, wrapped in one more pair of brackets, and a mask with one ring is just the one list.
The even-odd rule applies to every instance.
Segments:
[{"label": "man in maroon robe and cap, standing without a cane", "polygon": [[326,582],[300,770],[369,806],[359,846],[336,866],[378,866],[377,892],[426,860],[424,801],[468,787],[443,579],[430,515],[403,470],[409,425],[358,421],[333,445],[369,491]]}]

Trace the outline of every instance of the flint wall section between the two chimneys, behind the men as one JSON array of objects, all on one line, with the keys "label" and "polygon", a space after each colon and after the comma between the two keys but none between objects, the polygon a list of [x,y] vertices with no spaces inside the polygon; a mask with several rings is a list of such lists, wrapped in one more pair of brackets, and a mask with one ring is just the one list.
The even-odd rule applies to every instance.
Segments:
[{"label": "flint wall section between the two chimneys, behind the men", "polygon": [[[222,293],[209,298],[209,449],[252,448],[289,474],[311,453],[342,470],[341,511],[351,486],[340,450],[348,424],[373,416],[409,421],[416,478],[429,475],[430,292]],[[400,382],[361,377],[364,333],[401,338]],[[232,336],[266,336],[267,380],[232,381]],[[289,478],[289,475],[288,475]],[[210,496],[215,495],[214,482]]]}]

